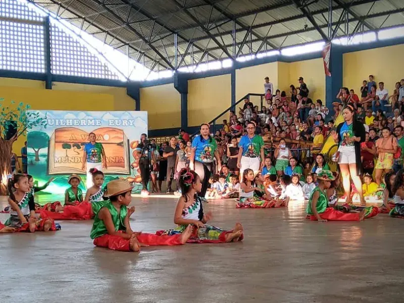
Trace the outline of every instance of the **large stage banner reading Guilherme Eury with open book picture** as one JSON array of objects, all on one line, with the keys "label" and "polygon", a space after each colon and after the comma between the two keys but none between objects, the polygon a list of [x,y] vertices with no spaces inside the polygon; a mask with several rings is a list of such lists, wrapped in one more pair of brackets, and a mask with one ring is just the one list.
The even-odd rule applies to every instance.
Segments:
[{"label": "large stage banner reading Guilherme Eury with open book picture", "polygon": [[55,180],[43,193],[64,193],[71,174],[80,175],[85,191],[86,172],[83,147],[88,134],[95,133],[107,159],[105,183],[125,178],[134,183],[133,192],[141,190],[137,154],[134,152],[142,133],[147,133],[147,112],[66,112],[30,111],[46,119],[45,126],[30,129],[27,134],[28,174],[35,185]]}]

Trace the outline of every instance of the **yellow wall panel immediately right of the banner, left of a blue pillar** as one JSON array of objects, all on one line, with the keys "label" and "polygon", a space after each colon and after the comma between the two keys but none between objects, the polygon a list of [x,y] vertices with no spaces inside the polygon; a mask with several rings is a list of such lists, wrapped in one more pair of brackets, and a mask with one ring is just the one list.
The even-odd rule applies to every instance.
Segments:
[{"label": "yellow wall panel immediately right of the banner, left of a blue pillar", "polygon": [[181,126],[181,96],[173,83],[140,88],[140,110],[148,112],[149,129]]}]

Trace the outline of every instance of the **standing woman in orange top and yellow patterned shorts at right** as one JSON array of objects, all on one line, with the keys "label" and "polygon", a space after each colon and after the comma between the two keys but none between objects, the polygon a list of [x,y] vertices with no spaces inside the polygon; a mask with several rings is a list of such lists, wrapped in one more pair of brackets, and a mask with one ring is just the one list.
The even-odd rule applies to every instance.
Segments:
[{"label": "standing woman in orange top and yellow patterned shorts at right", "polygon": [[394,154],[397,151],[397,139],[390,133],[388,127],[382,130],[382,137],[376,141],[376,153],[378,155],[375,166],[376,183],[382,182],[383,172],[387,174],[393,168]]}]

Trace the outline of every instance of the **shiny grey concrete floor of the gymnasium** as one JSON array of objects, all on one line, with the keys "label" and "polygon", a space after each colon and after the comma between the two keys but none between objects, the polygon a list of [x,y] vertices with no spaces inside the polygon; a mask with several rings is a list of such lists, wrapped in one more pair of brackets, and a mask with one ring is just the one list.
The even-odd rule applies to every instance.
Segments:
[{"label": "shiny grey concrete floor of the gymnasium", "polygon": [[[176,199],[133,198],[133,230],[173,227]],[[4,200],[0,205],[4,206]],[[204,205],[212,224],[241,222],[229,244],[145,247],[137,254],[93,246],[91,221],[62,230],[0,236],[0,302],[402,302],[404,220],[309,222],[304,205],[235,209]],[[6,215],[0,214],[4,222]]]}]

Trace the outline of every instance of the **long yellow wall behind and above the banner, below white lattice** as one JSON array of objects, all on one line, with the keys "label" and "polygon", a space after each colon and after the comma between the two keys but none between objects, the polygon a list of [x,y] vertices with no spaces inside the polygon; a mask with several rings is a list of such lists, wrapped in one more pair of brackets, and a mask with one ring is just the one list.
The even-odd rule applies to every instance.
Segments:
[{"label": "long yellow wall behind and above the banner, below white lattice", "polygon": [[[43,81],[0,78],[0,98],[4,106],[15,108],[20,102],[33,110],[62,111],[121,111],[134,110],[135,102],[121,87],[55,83],[54,89],[45,89]],[[125,95],[124,95],[125,94]],[[15,104],[11,102],[15,101]],[[20,156],[26,137],[21,136],[13,145]]]}]

